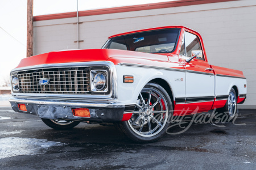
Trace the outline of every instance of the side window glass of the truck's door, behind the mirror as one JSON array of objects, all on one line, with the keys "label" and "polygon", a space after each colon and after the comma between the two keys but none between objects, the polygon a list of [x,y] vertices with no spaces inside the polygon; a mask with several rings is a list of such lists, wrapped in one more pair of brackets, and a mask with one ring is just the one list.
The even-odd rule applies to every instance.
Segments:
[{"label": "side window glass of the truck's door, behind the mirror", "polygon": [[[185,35],[185,48],[186,48],[185,51],[187,52],[187,57],[191,57],[192,50],[202,50],[200,45],[200,40],[196,35],[187,31],[185,31],[184,35]],[[204,60],[204,57],[201,58],[201,60]]]}]

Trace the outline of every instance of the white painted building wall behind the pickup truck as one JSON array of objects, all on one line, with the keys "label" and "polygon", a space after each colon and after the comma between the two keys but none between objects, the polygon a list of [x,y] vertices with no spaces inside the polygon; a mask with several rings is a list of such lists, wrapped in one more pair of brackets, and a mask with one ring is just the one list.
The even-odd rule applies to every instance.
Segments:
[{"label": "white painted building wall behind the pickup truck", "polygon": [[[240,108],[256,109],[256,1],[240,0],[81,16],[80,48],[101,48],[109,36],[136,29],[184,25],[204,40],[212,65],[242,70],[247,99]],[[34,22],[34,53],[77,48],[76,18]]]}]

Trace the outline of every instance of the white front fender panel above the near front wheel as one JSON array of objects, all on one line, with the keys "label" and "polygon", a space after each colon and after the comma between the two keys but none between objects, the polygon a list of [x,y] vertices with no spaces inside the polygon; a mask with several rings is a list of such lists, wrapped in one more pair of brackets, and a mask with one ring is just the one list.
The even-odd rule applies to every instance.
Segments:
[{"label": "white front fender panel above the near front wheel", "polygon": [[[115,67],[117,70],[118,101],[122,103],[136,103],[142,88],[156,78],[163,79],[170,85],[174,97],[185,96],[184,72],[122,65],[115,65]],[[123,83],[123,75],[134,76],[134,83]],[[176,78],[183,78],[183,81],[175,81]]]}]

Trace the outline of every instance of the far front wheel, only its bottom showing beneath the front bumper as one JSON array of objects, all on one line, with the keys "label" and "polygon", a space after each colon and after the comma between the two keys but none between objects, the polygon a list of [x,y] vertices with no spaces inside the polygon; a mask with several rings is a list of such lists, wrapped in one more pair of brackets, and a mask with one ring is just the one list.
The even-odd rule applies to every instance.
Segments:
[{"label": "far front wheel, only its bottom showing beneath the front bumper", "polygon": [[60,119],[47,119],[41,118],[44,124],[49,126],[50,128],[57,129],[57,130],[68,130],[74,128],[80,122],[76,121],[67,121],[67,120],[60,120]]}]

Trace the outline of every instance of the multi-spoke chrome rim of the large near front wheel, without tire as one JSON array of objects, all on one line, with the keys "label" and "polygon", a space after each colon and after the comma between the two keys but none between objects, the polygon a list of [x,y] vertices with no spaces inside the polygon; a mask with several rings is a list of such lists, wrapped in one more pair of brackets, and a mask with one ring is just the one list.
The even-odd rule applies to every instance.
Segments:
[{"label": "multi-spoke chrome rim of the large near front wheel, without tire", "polygon": [[168,120],[168,104],[162,92],[143,88],[128,124],[136,134],[152,137],[163,130]]}]

